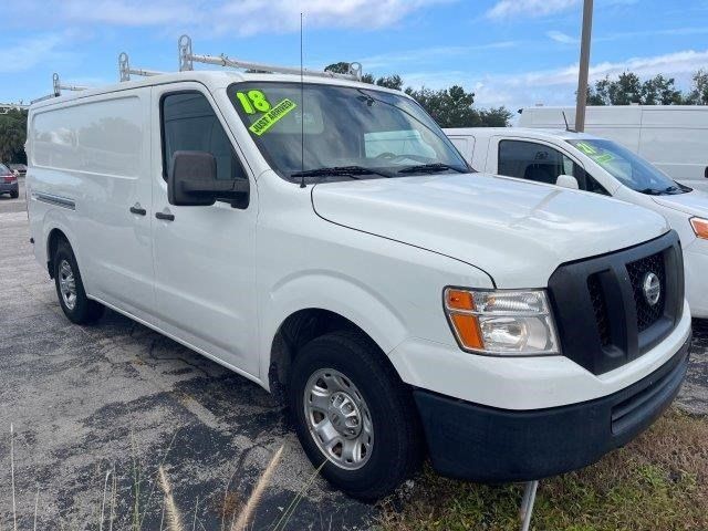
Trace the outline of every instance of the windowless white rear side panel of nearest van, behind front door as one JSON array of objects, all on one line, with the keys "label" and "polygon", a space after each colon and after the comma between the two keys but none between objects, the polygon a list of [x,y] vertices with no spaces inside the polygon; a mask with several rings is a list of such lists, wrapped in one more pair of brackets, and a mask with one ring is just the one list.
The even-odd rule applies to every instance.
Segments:
[{"label": "windowless white rear side panel of nearest van, behind front door", "polygon": [[45,243],[61,218],[88,295],[138,316],[153,306],[152,216],[129,209],[150,205],[150,140],[149,88],[60,102],[30,123],[35,241]]}]

